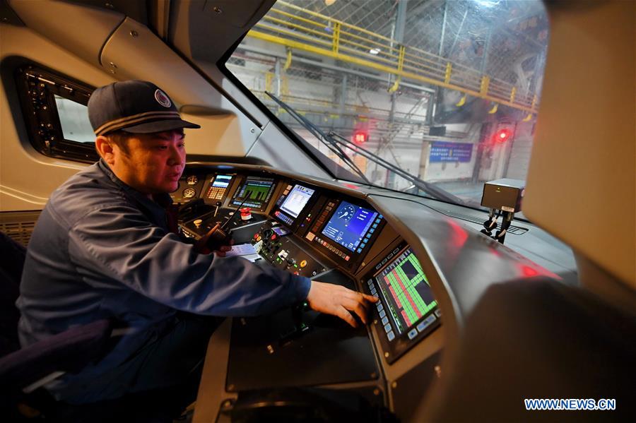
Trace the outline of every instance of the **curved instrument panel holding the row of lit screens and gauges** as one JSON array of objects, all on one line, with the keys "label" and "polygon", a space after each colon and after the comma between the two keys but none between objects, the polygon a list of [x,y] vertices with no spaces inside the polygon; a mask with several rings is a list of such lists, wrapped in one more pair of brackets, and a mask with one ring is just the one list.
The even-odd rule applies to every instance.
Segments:
[{"label": "curved instrument panel holding the row of lit screens and gauges", "polygon": [[[271,266],[308,278],[337,270],[378,297],[372,326],[387,364],[440,326],[440,310],[412,249],[360,198],[265,172],[216,172],[184,175],[172,199],[182,207],[206,205],[181,222],[189,237],[229,223],[235,242],[252,243]],[[240,211],[245,208],[247,219]]]}]

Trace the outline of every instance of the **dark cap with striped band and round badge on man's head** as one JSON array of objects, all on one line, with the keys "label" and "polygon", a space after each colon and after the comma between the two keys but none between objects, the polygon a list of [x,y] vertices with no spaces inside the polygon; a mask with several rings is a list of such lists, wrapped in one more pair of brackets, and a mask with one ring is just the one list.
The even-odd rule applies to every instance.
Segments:
[{"label": "dark cap with striped band and round badge on man's head", "polygon": [[201,128],[181,119],[170,97],[148,81],[122,81],[98,88],[88,100],[88,119],[98,136],[114,131],[154,133]]}]

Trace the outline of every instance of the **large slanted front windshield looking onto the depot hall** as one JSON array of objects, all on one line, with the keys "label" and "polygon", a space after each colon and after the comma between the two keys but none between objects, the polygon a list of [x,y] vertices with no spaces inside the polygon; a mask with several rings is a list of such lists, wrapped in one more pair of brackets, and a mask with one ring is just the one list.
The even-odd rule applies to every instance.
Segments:
[{"label": "large slanted front windshield looking onto the depot hall", "polygon": [[279,0],[226,66],[339,179],[479,205],[526,178],[547,41],[537,0]]}]

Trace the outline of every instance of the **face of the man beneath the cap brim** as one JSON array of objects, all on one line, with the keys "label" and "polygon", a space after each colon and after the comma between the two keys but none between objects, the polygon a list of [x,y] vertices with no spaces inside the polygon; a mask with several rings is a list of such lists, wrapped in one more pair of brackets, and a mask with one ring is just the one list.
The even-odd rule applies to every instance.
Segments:
[{"label": "face of the man beneath the cap brim", "polygon": [[186,157],[182,131],[131,134],[126,146],[127,153],[115,145],[109,162],[119,179],[146,194],[177,190]]}]

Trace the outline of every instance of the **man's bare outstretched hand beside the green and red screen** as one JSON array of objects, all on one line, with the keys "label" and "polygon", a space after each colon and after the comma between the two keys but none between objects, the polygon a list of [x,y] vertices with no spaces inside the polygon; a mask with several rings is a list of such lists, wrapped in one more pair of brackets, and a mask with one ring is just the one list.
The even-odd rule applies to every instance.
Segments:
[{"label": "man's bare outstretched hand beside the green and red screen", "polygon": [[312,309],[338,316],[354,328],[358,327],[358,322],[348,310],[353,311],[360,316],[360,320],[367,323],[370,302],[377,302],[377,298],[317,280],[312,280],[312,287],[307,294],[307,303]]}]

